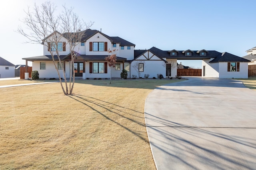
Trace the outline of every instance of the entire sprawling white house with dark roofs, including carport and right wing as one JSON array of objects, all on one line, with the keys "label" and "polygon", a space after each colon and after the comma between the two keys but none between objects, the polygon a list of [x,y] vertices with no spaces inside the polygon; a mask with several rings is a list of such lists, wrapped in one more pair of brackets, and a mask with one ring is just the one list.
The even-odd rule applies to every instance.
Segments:
[{"label": "entire sprawling white house with dark roofs, including carport and right wing", "polygon": [[[58,74],[49,52],[54,48],[47,41],[42,43],[44,44],[43,56],[28,57],[24,60],[32,61],[32,69],[38,70],[40,78],[57,78]],[[75,76],[83,79],[110,78],[110,69],[112,69],[113,78],[120,78],[123,69],[128,71],[128,78],[132,78],[133,75],[138,77],[138,72],[140,77],[149,74],[149,78],[152,78],[156,77],[157,74],[166,75],[166,69],[170,69],[170,63],[176,64],[177,60],[202,60],[202,75],[205,77],[246,78],[248,76],[245,70],[248,70],[247,63],[250,61],[229,53],[206,50],[162,51],[156,47],[148,50],[135,50],[135,44],[129,41],[120,37],[110,37],[92,29],[87,29],[82,41],[76,43],[79,44],[79,47],[74,49],[78,53],[74,61]],[[65,34],[63,34],[62,40],[58,42],[58,49],[62,61],[61,63],[58,62],[58,69],[63,78],[60,65],[62,64],[66,71],[66,77],[69,78],[71,58],[70,51],[67,50],[69,48]],[[117,49],[117,63],[114,68],[109,68],[105,61],[105,57],[109,55],[108,49]],[[57,56],[54,58],[58,59]],[[234,63],[236,68],[231,69]],[[172,68],[170,76],[175,77],[177,65]]]}]

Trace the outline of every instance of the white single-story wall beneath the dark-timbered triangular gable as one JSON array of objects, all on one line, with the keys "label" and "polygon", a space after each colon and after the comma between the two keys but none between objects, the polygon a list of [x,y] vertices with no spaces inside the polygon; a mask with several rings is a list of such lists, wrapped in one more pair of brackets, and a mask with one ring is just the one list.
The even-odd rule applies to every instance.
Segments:
[{"label": "white single-story wall beneath the dark-timbered triangular gable", "polygon": [[[131,63],[131,73],[130,74],[131,74],[131,76],[136,75],[138,78],[138,69],[135,69],[133,67],[136,62],[140,63],[140,61],[137,61],[137,60],[135,60]],[[162,74],[163,76],[166,75],[166,69],[162,65],[164,63],[164,61],[162,61],[162,60],[158,60],[158,61],[146,60],[145,61],[144,60],[141,62],[144,62],[144,71],[140,72],[140,76],[142,78],[144,78],[144,74],[149,74],[149,78],[157,77],[157,74]]]}]

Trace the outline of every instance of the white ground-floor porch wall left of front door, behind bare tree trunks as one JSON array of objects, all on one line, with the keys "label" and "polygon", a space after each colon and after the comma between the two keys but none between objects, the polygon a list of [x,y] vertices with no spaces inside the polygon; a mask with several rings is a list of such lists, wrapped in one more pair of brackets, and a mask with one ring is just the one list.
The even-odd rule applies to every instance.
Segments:
[{"label": "white ground-floor porch wall left of front door, behind bare tree trunks", "polygon": [[[45,62],[46,63],[46,69],[41,70],[40,69],[40,63]],[[58,64],[56,62],[56,64]],[[34,61],[32,62],[32,70],[37,70],[39,73],[39,78],[58,78],[58,72],[55,69],[55,66],[53,64],[53,61]],[[60,77],[64,78],[63,71],[59,70]],[[69,62],[66,62],[66,78],[69,78]]]}]

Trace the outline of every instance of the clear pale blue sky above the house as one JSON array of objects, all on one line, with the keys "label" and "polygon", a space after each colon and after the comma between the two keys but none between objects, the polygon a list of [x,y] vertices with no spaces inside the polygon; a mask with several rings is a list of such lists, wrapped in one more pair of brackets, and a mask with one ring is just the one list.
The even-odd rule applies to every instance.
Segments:
[{"label": "clear pale blue sky above the house", "polygon": [[[25,64],[24,57],[43,54],[42,45],[26,44],[16,33],[27,6],[42,0],[1,1],[0,57]],[[256,46],[255,0],[52,0],[58,7],[72,6],[81,19],[136,44],[135,49],[216,50],[243,57]],[[199,61],[182,61],[201,68]]]}]

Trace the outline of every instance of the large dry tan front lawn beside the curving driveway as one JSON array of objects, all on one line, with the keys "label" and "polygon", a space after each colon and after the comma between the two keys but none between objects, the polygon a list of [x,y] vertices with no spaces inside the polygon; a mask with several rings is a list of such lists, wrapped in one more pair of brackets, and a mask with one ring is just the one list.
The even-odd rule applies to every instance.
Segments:
[{"label": "large dry tan front lawn beside the curving driveway", "polygon": [[144,101],[176,81],[76,80],[74,96],[59,83],[0,88],[0,169],[156,169]]}]

